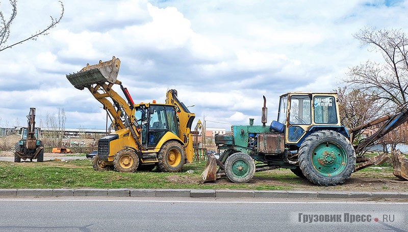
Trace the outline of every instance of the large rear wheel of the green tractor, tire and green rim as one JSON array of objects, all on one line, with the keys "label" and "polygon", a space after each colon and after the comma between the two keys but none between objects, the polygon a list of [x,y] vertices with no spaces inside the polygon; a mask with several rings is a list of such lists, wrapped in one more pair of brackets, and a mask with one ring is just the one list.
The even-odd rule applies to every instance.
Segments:
[{"label": "large rear wheel of the green tractor, tire and green rim", "polygon": [[308,136],[300,146],[298,159],[304,176],[321,186],[343,184],[355,166],[353,146],[335,131],[319,131]]}]

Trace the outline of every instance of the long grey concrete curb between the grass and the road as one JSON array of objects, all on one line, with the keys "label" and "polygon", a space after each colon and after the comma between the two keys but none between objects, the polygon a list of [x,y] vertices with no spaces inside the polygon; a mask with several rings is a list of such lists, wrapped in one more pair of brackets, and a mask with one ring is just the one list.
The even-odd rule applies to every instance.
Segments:
[{"label": "long grey concrete curb between the grass and the road", "polygon": [[212,189],[0,189],[0,198],[15,196],[106,197],[246,197],[246,198],[408,198],[408,192],[276,191]]}]

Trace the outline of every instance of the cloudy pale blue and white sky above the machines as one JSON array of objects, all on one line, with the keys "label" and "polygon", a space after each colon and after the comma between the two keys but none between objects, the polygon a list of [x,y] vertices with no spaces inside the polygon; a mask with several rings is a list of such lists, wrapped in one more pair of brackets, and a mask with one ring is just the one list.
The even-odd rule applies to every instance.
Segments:
[{"label": "cloudy pale blue and white sky above the machines", "polygon": [[[167,89],[176,89],[186,106],[195,105],[189,109],[197,119],[229,130],[221,123],[261,124],[265,95],[271,122],[280,95],[332,91],[350,67],[381,61],[353,38],[360,29],[408,32],[408,1],[62,2],[64,17],[48,35],[0,51],[0,126],[25,125],[35,107],[37,123],[64,109],[66,127],[105,128],[99,102],[65,74],[112,56],[135,102],[164,102]],[[7,44],[61,11],[54,0],[17,4]],[[9,16],[8,1],[0,10]]]}]

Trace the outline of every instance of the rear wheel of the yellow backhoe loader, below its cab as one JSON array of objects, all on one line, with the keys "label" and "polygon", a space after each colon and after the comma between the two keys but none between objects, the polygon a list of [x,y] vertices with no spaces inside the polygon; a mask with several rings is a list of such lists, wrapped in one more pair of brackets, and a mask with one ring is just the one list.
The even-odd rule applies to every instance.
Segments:
[{"label": "rear wheel of the yellow backhoe loader, below its cab", "polygon": [[157,159],[157,168],[162,172],[179,172],[185,162],[185,154],[182,145],[176,141],[167,141],[160,148]]}]

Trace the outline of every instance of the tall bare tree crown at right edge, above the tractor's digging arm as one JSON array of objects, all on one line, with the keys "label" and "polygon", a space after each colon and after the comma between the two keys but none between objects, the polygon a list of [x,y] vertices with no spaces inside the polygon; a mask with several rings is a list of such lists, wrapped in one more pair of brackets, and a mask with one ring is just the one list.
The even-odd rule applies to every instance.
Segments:
[{"label": "tall bare tree crown at right edge, above the tractor's digging arm", "polygon": [[353,89],[359,89],[372,99],[396,109],[407,101],[408,38],[401,30],[366,28],[354,37],[371,51],[380,52],[384,62],[367,61],[350,68],[345,80]]}]

